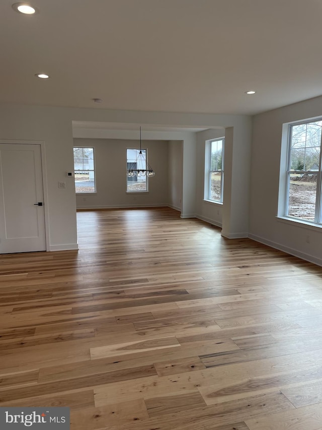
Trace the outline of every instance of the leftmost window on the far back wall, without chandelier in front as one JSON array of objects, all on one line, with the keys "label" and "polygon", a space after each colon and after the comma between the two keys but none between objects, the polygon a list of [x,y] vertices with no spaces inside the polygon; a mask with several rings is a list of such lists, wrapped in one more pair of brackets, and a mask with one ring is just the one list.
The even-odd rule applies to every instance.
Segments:
[{"label": "leftmost window on the far back wall, without chandelier in front", "polygon": [[76,193],[96,193],[94,148],[74,148]]}]

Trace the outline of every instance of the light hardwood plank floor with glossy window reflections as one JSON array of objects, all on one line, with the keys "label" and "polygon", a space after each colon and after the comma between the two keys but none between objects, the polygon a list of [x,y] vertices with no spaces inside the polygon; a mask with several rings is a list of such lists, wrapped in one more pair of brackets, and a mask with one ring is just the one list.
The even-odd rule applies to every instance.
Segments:
[{"label": "light hardwood plank floor with glossy window reflections", "polygon": [[321,430],[322,268],[169,208],[0,256],[0,406],[72,430]]}]

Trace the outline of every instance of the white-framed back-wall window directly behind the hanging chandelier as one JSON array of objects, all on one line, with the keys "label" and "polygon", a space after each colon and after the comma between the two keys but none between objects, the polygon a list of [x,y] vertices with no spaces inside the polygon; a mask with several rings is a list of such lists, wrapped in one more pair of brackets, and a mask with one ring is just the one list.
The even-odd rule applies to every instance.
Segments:
[{"label": "white-framed back-wall window directly behind the hanging chandelier", "polygon": [[[139,157],[139,149],[128,148],[126,150],[126,169],[140,169],[142,166],[137,165],[137,160]],[[146,149],[141,149],[142,156],[145,160],[147,160],[147,151]],[[144,169],[146,168],[143,166]],[[126,176],[126,191],[128,193],[141,193],[147,192],[147,176],[146,172],[135,172],[134,176]]]}]

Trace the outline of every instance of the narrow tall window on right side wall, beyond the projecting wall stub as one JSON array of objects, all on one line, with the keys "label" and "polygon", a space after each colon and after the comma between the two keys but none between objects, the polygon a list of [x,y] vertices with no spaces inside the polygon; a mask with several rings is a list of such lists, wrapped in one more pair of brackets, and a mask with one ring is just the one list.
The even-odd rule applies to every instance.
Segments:
[{"label": "narrow tall window on right side wall, beyond the projecting wall stub", "polygon": [[224,138],[206,142],[205,151],[205,200],[222,203]]}]

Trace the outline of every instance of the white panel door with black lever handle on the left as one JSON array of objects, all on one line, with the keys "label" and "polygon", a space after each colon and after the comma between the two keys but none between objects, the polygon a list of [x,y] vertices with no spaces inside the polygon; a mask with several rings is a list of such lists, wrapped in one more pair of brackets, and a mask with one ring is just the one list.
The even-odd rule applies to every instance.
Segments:
[{"label": "white panel door with black lever handle on the left", "polygon": [[0,144],[0,254],[46,250],[40,151]]}]

